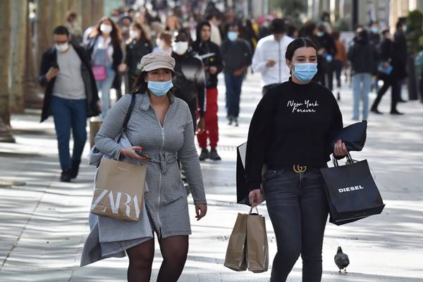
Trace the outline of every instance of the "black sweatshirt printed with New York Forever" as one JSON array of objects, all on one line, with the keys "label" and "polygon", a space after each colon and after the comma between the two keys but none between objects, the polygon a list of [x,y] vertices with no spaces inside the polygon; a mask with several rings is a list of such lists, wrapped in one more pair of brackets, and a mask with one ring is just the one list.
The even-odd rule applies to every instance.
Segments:
[{"label": "black sweatshirt printed with New York Forever", "polygon": [[271,87],[259,102],[248,132],[245,173],[250,190],[260,188],[262,166],[324,167],[333,152],[331,137],[343,128],[338,103],[316,82],[290,79]]}]

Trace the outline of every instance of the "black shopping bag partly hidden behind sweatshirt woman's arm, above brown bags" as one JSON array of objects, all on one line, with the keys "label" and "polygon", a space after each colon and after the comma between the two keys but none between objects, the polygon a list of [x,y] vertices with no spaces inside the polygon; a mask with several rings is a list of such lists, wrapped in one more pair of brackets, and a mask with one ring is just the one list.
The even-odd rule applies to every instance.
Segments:
[{"label": "black shopping bag partly hidden behind sweatshirt woman's arm, above brown bags", "polygon": [[[247,152],[247,142],[239,145],[236,149],[236,202],[238,204],[250,205],[248,195],[250,190],[245,185],[245,154]],[[262,168],[262,173],[266,171],[266,165]],[[263,192],[260,195],[260,203],[264,202]]]}]

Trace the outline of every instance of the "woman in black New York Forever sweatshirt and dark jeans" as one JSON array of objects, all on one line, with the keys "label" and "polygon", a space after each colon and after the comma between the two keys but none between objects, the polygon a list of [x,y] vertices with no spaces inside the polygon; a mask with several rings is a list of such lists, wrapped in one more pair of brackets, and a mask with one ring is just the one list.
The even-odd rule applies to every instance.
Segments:
[{"label": "woman in black New York Forever sweatshirt and dark jeans", "polygon": [[[329,89],[312,82],[317,72],[314,43],[295,39],[286,50],[291,78],[272,87],[250,123],[246,154],[250,203],[260,202],[260,185],[276,234],[278,252],[271,281],[286,281],[302,257],[302,281],[320,281],[321,249],[329,209],[320,168],[329,156],[348,154],[331,136],[343,128],[341,111]],[[262,166],[268,170],[262,177]]]}]

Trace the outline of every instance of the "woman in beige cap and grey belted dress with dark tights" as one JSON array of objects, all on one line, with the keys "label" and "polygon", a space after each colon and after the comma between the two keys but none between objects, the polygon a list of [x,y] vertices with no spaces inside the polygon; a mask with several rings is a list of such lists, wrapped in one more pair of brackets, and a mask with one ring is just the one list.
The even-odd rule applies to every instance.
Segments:
[{"label": "woman in beige cap and grey belted dress with dark tights", "polygon": [[[152,232],[146,235],[140,221],[105,221],[102,216],[98,216],[96,230],[90,216],[92,231],[81,259],[81,265],[85,265],[106,257],[123,257],[126,252],[129,257],[128,281],[149,281],[154,258],[154,233],[164,258],[157,281],[178,281],[183,271],[191,228],[187,192],[180,178],[177,159],[185,169],[196,219],[202,219],[207,212],[190,109],[172,94],[174,66],[175,60],[165,54],[152,53],[142,57],[142,73],[135,82],[135,90],[124,95],[109,110],[95,137],[95,146],[104,154],[147,165],[145,206]],[[132,146],[123,147],[116,142],[116,137],[123,128],[132,95],[135,95],[135,105],[123,133]],[[106,236],[108,238],[104,238]]]}]

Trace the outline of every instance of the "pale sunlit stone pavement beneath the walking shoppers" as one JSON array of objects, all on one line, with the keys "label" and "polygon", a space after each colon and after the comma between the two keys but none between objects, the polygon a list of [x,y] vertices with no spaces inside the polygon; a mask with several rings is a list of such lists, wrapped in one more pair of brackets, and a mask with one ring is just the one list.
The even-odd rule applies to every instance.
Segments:
[{"label": "pale sunlit stone pavement beneath the walking shoppers", "polygon": [[[219,153],[223,160],[202,163],[209,211],[204,219],[195,221],[190,204],[190,252],[180,281],[269,281],[270,271],[252,274],[223,266],[236,215],[248,212],[247,207],[235,204],[235,149],[245,142],[250,118],[261,98],[259,78],[248,75],[244,83],[238,128],[226,125],[223,85],[219,85],[219,93]],[[389,105],[386,96],[380,106],[384,112]],[[348,125],[353,123],[348,86],[343,87],[341,98],[344,123]],[[323,281],[423,282],[423,105],[407,102],[398,109],[406,115],[370,115],[366,147],[353,154],[355,159],[369,160],[386,209],[379,216],[347,226],[328,223]],[[0,143],[0,180],[23,181],[26,185],[0,182],[0,281],[125,281],[127,258],[79,267],[89,231],[94,168],[84,163],[77,180],[59,182],[51,119],[40,124],[39,113],[27,111],[14,115],[12,125],[17,143]],[[87,152],[88,145],[84,155]],[[259,212],[266,216],[272,259],[276,242],[264,204]],[[338,245],[350,256],[347,275],[338,274],[333,263]],[[160,263],[156,246],[152,281]],[[298,282],[300,277],[301,259],[288,281]]]}]

